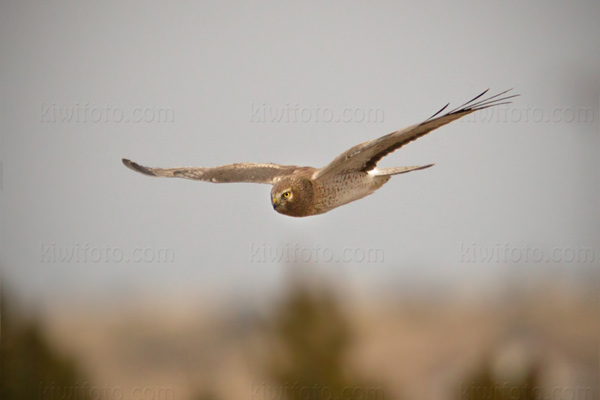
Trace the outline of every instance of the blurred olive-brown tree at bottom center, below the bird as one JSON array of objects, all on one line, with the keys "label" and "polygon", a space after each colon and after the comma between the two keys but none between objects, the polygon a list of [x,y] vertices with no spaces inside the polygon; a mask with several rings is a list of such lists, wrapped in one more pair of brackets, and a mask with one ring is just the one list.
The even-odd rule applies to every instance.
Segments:
[{"label": "blurred olive-brown tree at bottom center, below the bird", "polygon": [[296,285],[276,310],[271,326],[274,351],[267,372],[274,386],[258,388],[265,398],[384,398],[381,386],[366,385],[351,375],[346,357],[351,330],[326,291]]}]

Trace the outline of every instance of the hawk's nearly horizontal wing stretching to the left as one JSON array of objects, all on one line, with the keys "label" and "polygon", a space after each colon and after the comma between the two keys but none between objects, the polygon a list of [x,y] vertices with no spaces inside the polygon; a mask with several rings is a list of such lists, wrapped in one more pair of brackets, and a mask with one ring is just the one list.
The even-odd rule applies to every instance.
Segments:
[{"label": "hawk's nearly horizontal wing stretching to the left", "polygon": [[274,183],[278,178],[287,176],[299,167],[278,164],[239,163],[220,167],[180,167],[180,168],[148,168],[133,161],[123,159],[126,167],[149,176],[165,178],[184,178],[213,183]]}]

